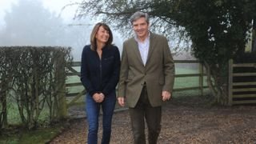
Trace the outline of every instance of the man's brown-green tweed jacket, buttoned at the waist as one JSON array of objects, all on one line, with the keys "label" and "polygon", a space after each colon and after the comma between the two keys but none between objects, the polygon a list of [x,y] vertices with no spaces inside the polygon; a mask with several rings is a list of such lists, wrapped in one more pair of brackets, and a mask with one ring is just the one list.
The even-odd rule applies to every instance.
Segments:
[{"label": "man's brown-green tweed jacket, buttoned at the waist", "polygon": [[136,106],[144,83],[151,106],[162,106],[162,91],[173,90],[174,60],[167,39],[158,34],[150,33],[145,66],[135,38],[123,43],[118,97],[124,97],[127,106]]}]

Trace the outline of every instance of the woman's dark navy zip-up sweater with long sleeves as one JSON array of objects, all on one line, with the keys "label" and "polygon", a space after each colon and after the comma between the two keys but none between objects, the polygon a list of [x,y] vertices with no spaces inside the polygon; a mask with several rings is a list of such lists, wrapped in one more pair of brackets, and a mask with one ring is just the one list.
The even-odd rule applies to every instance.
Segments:
[{"label": "woman's dark navy zip-up sweater with long sleeves", "polygon": [[90,45],[82,50],[81,82],[86,91],[93,96],[103,93],[105,96],[115,91],[120,70],[120,54],[117,46],[105,46],[102,59]]}]

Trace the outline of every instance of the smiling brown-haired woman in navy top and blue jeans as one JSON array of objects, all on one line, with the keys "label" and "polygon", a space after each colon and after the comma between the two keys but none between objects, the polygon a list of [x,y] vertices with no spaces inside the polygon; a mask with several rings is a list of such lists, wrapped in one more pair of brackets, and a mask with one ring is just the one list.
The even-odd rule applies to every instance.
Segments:
[{"label": "smiling brown-haired woman in navy top and blue jeans", "polygon": [[85,86],[89,144],[98,142],[98,116],[102,107],[102,143],[110,143],[111,121],[116,102],[120,54],[113,46],[113,35],[105,23],[97,23],[90,34],[90,45],[82,50],[81,81]]}]

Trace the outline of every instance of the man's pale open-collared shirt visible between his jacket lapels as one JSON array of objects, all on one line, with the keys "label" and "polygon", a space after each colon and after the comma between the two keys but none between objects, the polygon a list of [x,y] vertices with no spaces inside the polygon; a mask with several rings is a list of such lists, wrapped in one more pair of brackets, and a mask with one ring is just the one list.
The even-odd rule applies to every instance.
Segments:
[{"label": "man's pale open-collared shirt visible between his jacket lapels", "polygon": [[141,54],[142,62],[145,66],[147,55],[149,54],[149,49],[150,49],[150,33],[144,42],[139,41],[136,35],[134,38],[136,42],[138,42],[138,50],[139,50],[139,53]]}]

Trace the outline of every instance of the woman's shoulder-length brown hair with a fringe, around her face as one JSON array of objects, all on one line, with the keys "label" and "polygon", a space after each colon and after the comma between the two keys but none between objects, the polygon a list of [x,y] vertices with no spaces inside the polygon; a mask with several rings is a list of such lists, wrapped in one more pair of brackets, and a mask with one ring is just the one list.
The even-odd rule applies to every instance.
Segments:
[{"label": "woman's shoulder-length brown hair with a fringe, around her face", "polygon": [[110,30],[110,27],[107,26],[105,23],[102,22],[98,22],[95,26],[94,29],[92,30],[91,34],[90,34],[90,48],[91,50],[96,50],[97,49],[97,45],[96,45],[96,34],[98,32],[99,27],[102,26],[105,30],[107,30],[110,34],[110,38],[108,39],[108,41],[106,42],[106,46],[109,46],[112,44],[113,42],[113,34],[112,31]]}]

